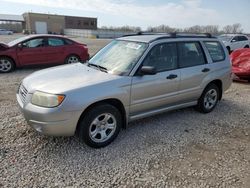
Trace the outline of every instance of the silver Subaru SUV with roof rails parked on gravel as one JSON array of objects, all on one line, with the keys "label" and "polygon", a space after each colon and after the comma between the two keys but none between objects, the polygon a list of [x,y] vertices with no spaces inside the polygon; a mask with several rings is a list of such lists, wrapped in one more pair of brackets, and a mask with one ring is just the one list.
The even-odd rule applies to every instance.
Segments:
[{"label": "silver Subaru SUV with roof rails parked on gravel", "polygon": [[17,101],[38,132],[104,147],[132,120],[189,106],[211,112],[231,85],[226,50],[211,35],[125,36],[85,64],[29,75]]}]

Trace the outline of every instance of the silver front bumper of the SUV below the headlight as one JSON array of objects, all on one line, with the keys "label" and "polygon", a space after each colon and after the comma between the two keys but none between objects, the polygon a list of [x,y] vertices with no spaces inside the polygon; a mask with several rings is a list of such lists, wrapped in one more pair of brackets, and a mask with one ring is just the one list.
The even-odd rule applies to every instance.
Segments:
[{"label": "silver front bumper of the SUV below the headlight", "polygon": [[[30,94],[27,99],[31,98]],[[80,111],[66,112],[59,107],[44,108],[23,102],[16,94],[19,107],[27,123],[36,131],[51,136],[72,136],[75,134]]]}]

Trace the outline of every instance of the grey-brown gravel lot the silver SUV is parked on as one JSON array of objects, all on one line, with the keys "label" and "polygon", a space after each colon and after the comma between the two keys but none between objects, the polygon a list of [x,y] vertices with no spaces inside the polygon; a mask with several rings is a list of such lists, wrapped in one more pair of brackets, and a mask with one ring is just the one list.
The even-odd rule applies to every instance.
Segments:
[{"label": "grey-brown gravel lot the silver SUV is parked on", "polygon": [[[107,42],[76,40],[91,53]],[[146,118],[92,149],[27,125],[15,92],[38,69],[0,74],[0,187],[250,187],[249,84],[233,83],[212,113],[187,108]]]}]

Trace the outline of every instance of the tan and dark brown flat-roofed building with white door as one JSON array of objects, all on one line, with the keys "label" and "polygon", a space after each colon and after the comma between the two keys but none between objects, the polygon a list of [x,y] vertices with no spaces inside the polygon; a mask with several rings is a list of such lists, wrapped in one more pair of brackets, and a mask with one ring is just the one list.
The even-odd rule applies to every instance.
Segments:
[{"label": "tan and dark brown flat-roofed building with white door", "polygon": [[97,29],[97,18],[63,16],[55,14],[24,13],[28,33],[63,33],[64,29]]}]

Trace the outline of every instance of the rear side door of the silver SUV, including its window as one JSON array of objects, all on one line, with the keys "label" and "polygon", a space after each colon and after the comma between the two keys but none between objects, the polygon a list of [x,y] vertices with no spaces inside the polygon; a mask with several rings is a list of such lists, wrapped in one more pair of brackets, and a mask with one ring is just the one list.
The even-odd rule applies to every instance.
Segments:
[{"label": "rear side door of the silver SUV, including its window", "polygon": [[202,81],[209,74],[210,67],[200,42],[179,42],[177,46],[181,74],[180,101],[192,102],[199,98]]}]

